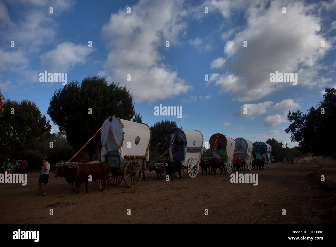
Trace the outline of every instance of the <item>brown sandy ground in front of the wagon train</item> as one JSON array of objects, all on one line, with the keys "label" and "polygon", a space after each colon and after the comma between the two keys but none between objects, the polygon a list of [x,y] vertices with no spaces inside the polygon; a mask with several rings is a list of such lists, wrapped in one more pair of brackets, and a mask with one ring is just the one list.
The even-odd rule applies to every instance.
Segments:
[{"label": "brown sandy ground in front of the wagon train", "polygon": [[134,188],[122,182],[99,192],[90,182],[89,194],[82,184],[77,196],[51,171],[45,197],[35,196],[38,172],[28,173],[26,186],[0,184],[0,210],[11,208],[0,223],[335,223],[335,164],[332,158],[318,158],[244,171],[258,173],[258,186],[230,183],[227,173],[210,176],[200,171],[194,179],[184,173],[180,180],[166,182],[164,176],[156,180],[154,171],[146,171],[148,180]]}]

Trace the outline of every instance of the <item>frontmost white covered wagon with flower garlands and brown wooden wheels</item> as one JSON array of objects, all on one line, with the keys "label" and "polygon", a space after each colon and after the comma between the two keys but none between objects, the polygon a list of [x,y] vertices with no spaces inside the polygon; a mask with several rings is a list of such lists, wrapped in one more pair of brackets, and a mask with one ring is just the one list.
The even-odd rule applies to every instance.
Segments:
[{"label": "frontmost white covered wagon with flower garlands and brown wooden wheels", "polygon": [[100,160],[110,165],[110,184],[118,185],[124,179],[128,187],[134,187],[140,182],[142,169],[146,169],[151,129],[115,116],[105,122],[101,128]]}]

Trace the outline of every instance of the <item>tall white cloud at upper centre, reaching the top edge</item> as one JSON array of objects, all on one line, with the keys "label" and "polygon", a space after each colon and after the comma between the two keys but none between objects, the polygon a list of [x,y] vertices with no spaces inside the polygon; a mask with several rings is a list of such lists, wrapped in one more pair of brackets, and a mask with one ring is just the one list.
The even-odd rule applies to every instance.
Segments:
[{"label": "tall white cloud at upper centre, reaching the top edge", "polygon": [[[170,46],[176,45],[184,33],[187,25],[182,2],[140,0],[131,9],[132,14],[126,13],[126,7],[111,14],[102,28],[109,50],[106,73],[130,88],[137,102],[171,98],[192,90],[177,71],[162,63],[159,52],[166,40]],[[130,81],[127,75],[131,75]]]}]

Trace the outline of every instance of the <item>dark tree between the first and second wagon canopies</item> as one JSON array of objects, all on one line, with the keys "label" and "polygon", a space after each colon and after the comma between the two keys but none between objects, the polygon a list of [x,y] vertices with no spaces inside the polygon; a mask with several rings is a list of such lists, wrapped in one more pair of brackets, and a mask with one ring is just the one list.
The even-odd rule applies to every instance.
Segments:
[{"label": "dark tree between the first and second wagon canopies", "polygon": [[[160,155],[167,151],[169,148],[168,133],[175,127],[177,127],[176,122],[170,122],[168,119],[165,119],[162,122],[157,122],[151,126],[152,140],[150,146],[150,161],[155,161]],[[169,151],[162,157],[168,159]]]}]

